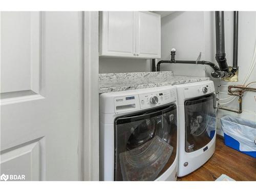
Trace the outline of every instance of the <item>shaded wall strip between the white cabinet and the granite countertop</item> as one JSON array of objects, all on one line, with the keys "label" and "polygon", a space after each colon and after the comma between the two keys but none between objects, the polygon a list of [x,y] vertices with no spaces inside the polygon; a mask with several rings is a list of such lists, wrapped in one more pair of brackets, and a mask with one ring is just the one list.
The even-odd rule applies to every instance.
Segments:
[{"label": "shaded wall strip between the white cabinet and the granite countertop", "polygon": [[151,71],[150,60],[99,57],[99,73],[126,73]]}]

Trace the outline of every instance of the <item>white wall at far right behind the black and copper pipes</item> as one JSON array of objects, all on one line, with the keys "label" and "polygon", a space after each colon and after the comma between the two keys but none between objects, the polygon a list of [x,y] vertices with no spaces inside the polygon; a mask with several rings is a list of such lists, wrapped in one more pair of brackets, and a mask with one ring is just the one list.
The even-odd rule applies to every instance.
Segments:
[{"label": "white wall at far right behind the black and copper pipes", "polygon": [[[214,13],[212,13],[214,14]],[[209,24],[214,23],[214,20],[209,20]],[[225,12],[225,50],[227,56],[227,62],[229,66],[232,66],[233,55],[233,12]],[[256,12],[239,12],[239,37],[238,37],[238,66],[239,66],[239,82],[226,82],[220,79],[215,80],[216,84],[221,84],[220,92],[227,92],[228,85],[242,84],[248,73],[249,66],[252,61],[254,47],[256,43]],[[215,45],[214,45],[215,46]],[[256,68],[254,68],[247,83],[256,81]],[[246,83],[246,84],[247,84]],[[256,87],[256,84],[251,84],[251,87]],[[224,110],[218,111],[218,118],[224,115],[230,114],[245,119],[256,121],[256,96],[255,92],[245,92],[242,103],[242,114],[228,112]],[[227,98],[229,95],[219,94],[219,98]],[[221,100],[220,103],[227,102],[230,99]],[[238,109],[238,97],[232,102],[225,104],[230,108]],[[222,134],[220,129],[220,121],[218,123],[219,133]]]}]

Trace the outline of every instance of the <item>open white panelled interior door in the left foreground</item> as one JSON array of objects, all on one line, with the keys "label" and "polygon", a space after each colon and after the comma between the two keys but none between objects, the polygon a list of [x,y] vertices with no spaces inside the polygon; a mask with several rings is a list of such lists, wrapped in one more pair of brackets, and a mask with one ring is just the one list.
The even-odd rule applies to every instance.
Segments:
[{"label": "open white panelled interior door in the left foreground", "polygon": [[81,12],[1,12],[0,175],[81,179],[81,26]]}]

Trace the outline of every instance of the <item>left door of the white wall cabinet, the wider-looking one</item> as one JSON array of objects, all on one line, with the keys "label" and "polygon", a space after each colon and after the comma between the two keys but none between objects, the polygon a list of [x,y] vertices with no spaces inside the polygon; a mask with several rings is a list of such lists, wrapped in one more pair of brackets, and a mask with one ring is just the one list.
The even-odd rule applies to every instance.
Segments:
[{"label": "left door of the white wall cabinet, the wider-looking one", "polygon": [[135,57],[135,19],[132,11],[104,11],[100,15],[100,55]]}]

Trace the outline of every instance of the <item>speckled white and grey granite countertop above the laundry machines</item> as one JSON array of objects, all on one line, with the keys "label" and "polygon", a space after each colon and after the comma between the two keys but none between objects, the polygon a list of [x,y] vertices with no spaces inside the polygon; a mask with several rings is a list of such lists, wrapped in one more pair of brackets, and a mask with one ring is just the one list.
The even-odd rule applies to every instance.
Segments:
[{"label": "speckled white and grey granite countertop above the laundry machines", "polygon": [[99,74],[99,93],[172,86],[209,79],[209,77],[176,76],[172,71]]}]

